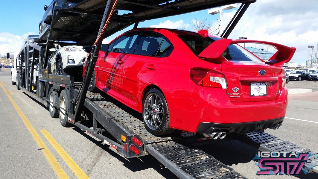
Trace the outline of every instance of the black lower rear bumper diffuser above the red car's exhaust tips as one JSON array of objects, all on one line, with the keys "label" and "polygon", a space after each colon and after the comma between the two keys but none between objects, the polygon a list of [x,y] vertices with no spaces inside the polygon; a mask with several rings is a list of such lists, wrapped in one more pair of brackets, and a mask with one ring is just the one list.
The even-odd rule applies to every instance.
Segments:
[{"label": "black lower rear bumper diffuser above the red car's exhaust tips", "polygon": [[249,131],[273,128],[277,124],[282,123],[284,117],[272,120],[254,121],[254,122],[243,122],[234,124],[221,124],[213,122],[202,122],[197,128],[197,133],[209,134],[212,130],[222,129],[228,131],[228,133],[246,133]]}]

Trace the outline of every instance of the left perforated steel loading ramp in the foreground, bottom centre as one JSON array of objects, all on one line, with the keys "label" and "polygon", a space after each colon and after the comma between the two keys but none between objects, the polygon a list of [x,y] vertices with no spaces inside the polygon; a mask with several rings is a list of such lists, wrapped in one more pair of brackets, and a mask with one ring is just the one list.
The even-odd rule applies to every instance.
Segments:
[{"label": "left perforated steel loading ramp in the foreground, bottom centre", "polygon": [[148,144],[148,152],[179,178],[245,178],[202,150],[174,141]]}]

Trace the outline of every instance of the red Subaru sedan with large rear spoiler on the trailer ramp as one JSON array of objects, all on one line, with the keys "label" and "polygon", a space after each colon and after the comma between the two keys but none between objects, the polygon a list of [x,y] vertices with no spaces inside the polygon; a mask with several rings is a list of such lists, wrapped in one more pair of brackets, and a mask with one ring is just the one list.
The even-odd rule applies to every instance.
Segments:
[{"label": "red Subaru sedan with large rear spoiler on the trailer ramp", "polygon": [[[239,43],[272,45],[265,62]],[[155,135],[175,129],[213,139],[280,127],[287,107],[282,65],[295,48],[199,32],[138,28],[101,46],[89,90],[142,113]],[[85,69],[85,67],[84,67]]]}]

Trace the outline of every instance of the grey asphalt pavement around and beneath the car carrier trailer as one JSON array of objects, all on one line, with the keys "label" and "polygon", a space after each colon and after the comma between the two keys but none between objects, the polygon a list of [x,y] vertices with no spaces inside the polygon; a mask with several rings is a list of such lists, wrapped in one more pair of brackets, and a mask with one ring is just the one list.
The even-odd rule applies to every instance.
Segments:
[{"label": "grey asphalt pavement around and beneath the car carrier trailer", "polygon": [[[0,122],[2,124],[0,178],[58,178],[53,170],[54,167],[49,163],[56,161],[69,178],[80,178],[76,175],[79,170],[82,170],[89,178],[176,178],[151,155],[126,159],[80,129],[62,127],[58,119],[51,118],[44,106],[11,85],[10,69],[2,69],[2,71],[0,83],[21,112],[20,114],[17,112],[7,94],[0,88]],[[307,81],[295,81],[288,83],[287,87],[294,88],[294,83],[302,86],[301,88],[305,88],[304,84],[308,84]],[[317,84],[313,83],[313,85],[312,88],[315,88],[317,92],[289,95],[287,118],[282,127],[278,130],[268,129],[267,133],[310,148],[312,151],[318,151],[316,133],[318,90]],[[23,115],[25,116],[24,120],[21,114],[22,118]],[[29,129],[26,127],[26,121],[29,121],[34,129],[33,135],[30,133],[30,126]],[[52,147],[43,130],[46,130],[49,136],[52,136],[64,149],[79,170],[70,169],[67,162],[63,160],[65,157],[60,156],[59,150]],[[39,145],[39,141],[42,141],[45,147]],[[224,141],[199,148],[247,178],[318,177],[315,173],[301,176],[257,176],[256,172],[259,169],[252,159],[258,150],[240,141]],[[47,159],[44,151],[49,151],[54,159]]]}]

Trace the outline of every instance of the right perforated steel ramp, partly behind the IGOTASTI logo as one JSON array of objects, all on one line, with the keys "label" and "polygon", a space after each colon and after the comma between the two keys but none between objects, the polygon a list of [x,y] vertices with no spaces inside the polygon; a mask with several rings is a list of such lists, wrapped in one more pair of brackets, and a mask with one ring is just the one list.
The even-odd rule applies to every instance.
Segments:
[{"label": "right perforated steel ramp, partly behind the IGOTASTI logo", "polygon": [[[243,134],[235,134],[234,137],[260,151],[278,151],[278,152],[299,152],[299,153],[312,153],[308,158],[308,163],[305,164],[307,168],[311,168],[309,172],[318,173],[318,153],[311,151],[308,148],[301,147],[289,141],[280,139],[271,134],[262,131],[252,131]],[[310,167],[310,166],[313,166]]]}]

